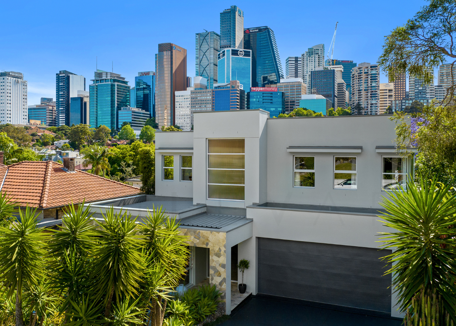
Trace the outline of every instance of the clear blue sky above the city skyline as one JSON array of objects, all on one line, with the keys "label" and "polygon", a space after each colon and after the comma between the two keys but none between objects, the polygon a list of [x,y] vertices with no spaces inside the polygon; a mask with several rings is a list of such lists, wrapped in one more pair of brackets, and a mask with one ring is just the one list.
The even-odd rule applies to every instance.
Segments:
[{"label": "clear blue sky above the city skyline", "polygon": [[[195,33],[220,32],[220,12],[231,5],[244,11],[244,28],[269,26],[275,32],[285,73],[285,58],[308,47],[330,46],[334,57],[376,62],[383,37],[403,25],[425,1],[6,1],[0,71],[17,71],[28,80],[28,104],[55,99],[55,74],[68,70],[92,82],[98,69],[133,84],[139,71],[155,70],[158,43],[187,49],[187,75],[195,75]],[[285,7],[286,6],[286,7]],[[7,27],[6,27],[7,26]],[[383,75],[381,82],[387,82]]]}]

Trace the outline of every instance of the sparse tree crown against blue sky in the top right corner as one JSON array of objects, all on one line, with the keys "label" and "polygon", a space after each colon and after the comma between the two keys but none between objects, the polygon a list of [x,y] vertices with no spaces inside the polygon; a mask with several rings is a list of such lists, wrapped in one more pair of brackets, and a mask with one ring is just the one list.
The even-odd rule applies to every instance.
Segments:
[{"label": "sparse tree crown against blue sky in the top right corner", "polygon": [[[429,67],[436,67],[456,58],[456,48],[453,34],[456,32],[454,16],[456,3],[452,0],[430,0],[404,26],[396,27],[391,34],[385,37],[383,53],[378,58],[382,70],[393,82],[398,74],[407,73],[424,79],[424,84],[434,83],[434,71]],[[448,89],[450,98],[454,95],[455,76],[452,73]]]}]

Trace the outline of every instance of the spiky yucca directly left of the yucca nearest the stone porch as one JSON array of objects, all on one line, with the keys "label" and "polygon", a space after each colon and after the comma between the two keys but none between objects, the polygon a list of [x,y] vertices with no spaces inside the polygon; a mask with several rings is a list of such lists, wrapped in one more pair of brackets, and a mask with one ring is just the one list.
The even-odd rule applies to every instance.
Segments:
[{"label": "spiky yucca directly left of the yucca nearest the stone porch", "polygon": [[99,280],[96,290],[99,296],[106,293],[104,317],[109,318],[113,296],[116,302],[138,294],[139,282],[143,277],[144,259],[140,253],[143,239],[136,229],[136,218],[127,212],[114,213],[114,209],[103,214],[97,230],[100,246],[95,250],[94,274]]}]

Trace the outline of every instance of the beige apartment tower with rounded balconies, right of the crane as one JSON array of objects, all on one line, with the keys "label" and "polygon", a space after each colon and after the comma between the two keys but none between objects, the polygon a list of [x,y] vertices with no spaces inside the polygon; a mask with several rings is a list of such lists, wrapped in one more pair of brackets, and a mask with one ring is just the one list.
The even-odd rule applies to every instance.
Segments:
[{"label": "beige apartment tower with rounded balconies, right of the crane", "polygon": [[[352,113],[354,106],[361,104],[364,114],[379,114],[379,70],[377,64],[363,62],[352,69]],[[394,86],[395,87],[395,86]]]}]

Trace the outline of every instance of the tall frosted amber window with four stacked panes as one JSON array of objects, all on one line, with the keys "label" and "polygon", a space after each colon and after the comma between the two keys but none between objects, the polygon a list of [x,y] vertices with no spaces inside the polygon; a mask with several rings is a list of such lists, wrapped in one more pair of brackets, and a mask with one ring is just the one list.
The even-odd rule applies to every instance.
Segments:
[{"label": "tall frosted amber window with four stacked panes", "polygon": [[207,140],[207,198],[244,200],[244,139]]}]

